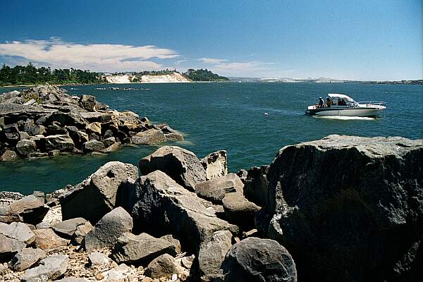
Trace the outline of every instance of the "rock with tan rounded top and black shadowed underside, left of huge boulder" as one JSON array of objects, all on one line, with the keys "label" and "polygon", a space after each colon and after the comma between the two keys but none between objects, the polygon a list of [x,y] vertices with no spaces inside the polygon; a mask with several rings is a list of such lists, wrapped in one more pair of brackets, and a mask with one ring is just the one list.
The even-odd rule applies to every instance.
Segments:
[{"label": "rock with tan rounded top and black shadowed underside, left of huge boulder", "polygon": [[260,210],[257,204],[249,202],[241,192],[226,194],[222,202],[228,222],[243,231],[255,228],[255,214]]}]

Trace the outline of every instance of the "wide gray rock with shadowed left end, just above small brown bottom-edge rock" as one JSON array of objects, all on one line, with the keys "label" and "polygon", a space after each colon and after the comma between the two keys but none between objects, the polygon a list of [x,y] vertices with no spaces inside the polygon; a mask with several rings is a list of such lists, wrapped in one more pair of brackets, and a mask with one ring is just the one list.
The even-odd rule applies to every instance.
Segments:
[{"label": "wide gray rock with shadowed left end, just above small brown bottom-edge rock", "polygon": [[154,238],[147,233],[133,235],[131,233],[123,233],[114,250],[111,252],[111,259],[118,264],[125,262],[130,264],[147,264],[159,255],[169,254],[175,256],[177,254],[175,246],[161,238]]}]

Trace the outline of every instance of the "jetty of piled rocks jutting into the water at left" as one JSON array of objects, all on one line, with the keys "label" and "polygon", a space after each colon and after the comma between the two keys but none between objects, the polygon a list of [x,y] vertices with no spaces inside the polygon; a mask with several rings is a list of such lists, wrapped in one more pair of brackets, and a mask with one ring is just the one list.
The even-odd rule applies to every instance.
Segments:
[{"label": "jetty of piled rocks jutting into the water at left", "polygon": [[0,160],[106,153],[124,144],[183,140],[166,124],[119,112],[91,95],[72,96],[53,85],[0,94]]}]

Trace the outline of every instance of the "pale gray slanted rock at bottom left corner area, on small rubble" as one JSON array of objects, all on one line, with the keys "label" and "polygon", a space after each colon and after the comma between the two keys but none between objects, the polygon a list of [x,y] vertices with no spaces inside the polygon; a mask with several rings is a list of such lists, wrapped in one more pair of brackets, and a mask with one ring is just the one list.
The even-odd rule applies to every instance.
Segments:
[{"label": "pale gray slanted rock at bottom left corner area, on small rubble", "polygon": [[51,281],[60,277],[68,269],[68,257],[66,255],[53,255],[42,259],[40,265],[28,269],[22,276],[23,282]]}]

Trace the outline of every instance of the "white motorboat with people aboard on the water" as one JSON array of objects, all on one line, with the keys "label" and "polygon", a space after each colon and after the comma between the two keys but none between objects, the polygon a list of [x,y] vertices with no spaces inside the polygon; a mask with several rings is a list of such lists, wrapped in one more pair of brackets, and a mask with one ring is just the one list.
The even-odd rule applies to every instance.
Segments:
[{"label": "white motorboat with people aboard on the water", "polygon": [[[319,98],[321,99],[321,97]],[[386,109],[384,102],[355,102],[345,94],[329,93],[326,102],[308,106],[310,116],[379,116]]]}]

